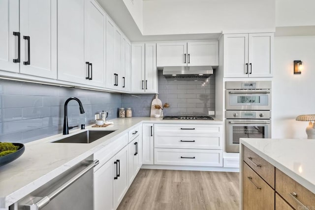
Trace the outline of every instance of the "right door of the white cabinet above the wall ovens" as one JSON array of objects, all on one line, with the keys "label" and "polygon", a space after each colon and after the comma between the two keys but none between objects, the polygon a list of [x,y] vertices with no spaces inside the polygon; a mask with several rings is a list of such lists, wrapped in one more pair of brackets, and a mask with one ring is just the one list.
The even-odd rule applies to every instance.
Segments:
[{"label": "right door of the white cabinet above the wall ovens", "polygon": [[272,76],[273,46],[273,33],[249,34],[249,77]]}]

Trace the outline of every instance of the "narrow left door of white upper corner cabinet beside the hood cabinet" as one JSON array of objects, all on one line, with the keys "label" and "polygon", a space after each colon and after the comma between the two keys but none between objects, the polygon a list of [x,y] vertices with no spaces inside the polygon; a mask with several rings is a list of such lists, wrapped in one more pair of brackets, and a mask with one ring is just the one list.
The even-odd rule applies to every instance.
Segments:
[{"label": "narrow left door of white upper corner cabinet beside the hood cabinet", "polygon": [[143,43],[131,44],[131,92],[144,92],[144,51]]}]

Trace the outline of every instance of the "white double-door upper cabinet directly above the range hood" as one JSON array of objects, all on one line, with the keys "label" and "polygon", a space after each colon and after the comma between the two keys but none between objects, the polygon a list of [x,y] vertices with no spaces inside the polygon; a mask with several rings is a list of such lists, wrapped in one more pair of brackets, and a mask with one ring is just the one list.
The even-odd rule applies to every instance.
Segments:
[{"label": "white double-door upper cabinet directly above the range hood", "polygon": [[219,42],[166,42],[157,44],[157,66],[219,65]]}]

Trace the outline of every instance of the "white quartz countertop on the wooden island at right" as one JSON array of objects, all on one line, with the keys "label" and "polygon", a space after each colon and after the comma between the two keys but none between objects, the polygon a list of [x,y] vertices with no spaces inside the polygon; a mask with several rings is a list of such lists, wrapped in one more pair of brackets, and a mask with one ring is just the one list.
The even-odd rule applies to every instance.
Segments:
[{"label": "white quartz countertop on the wooden island at right", "polygon": [[315,193],[315,140],[240,139],[240,143]]}]

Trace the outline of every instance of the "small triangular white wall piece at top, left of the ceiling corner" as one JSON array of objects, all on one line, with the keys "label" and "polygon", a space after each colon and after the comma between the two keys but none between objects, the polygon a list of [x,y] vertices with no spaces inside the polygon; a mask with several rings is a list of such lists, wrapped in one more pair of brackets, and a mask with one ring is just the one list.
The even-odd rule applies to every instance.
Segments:
[{"label": "small triangular white wall piece at top, left of the ceiling corner", "polygon": [[123,0],[127,9],[130,12],[134,22],[143,33],[143,9],[142,0]]}]

